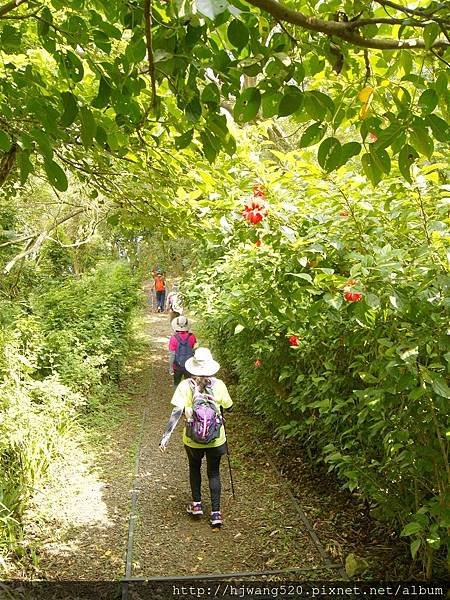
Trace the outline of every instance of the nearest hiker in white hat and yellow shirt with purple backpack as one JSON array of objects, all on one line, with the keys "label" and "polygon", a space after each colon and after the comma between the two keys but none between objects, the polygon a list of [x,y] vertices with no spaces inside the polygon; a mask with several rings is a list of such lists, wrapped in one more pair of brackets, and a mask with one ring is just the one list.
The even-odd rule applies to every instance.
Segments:
[{"label": "nearest hiker in white hat and yellow shirt with purple backpack", "polygon": [[213,377],[220,365],[213,359],[208,348],[197,348],[185,366],[192,377],[182,381],[175,390],[171,401],[174,409],[159,449],[165,452],[170,436],[184,412],[186,422],[183,443],[189,461],[192,492],[192,502],[188,504],[187,512],[193,517],[203,515],[201,465],[203,456],[206,455],[211,493],[210,524],[212,527],[220,527],[223,523],[220,511],[220,459],[227,452],[221,408],[230,412],[233,402],[224,382]]}]

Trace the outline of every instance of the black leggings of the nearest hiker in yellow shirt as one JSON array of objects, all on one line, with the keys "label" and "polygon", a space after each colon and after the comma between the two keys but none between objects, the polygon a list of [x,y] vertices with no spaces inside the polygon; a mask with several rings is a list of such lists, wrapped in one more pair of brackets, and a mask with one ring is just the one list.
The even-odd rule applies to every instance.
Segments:
[{"label": "black leggings of the nearest hiker in yellow shirt", "polygon": [[216,448],[191,448],[184,446],[189,460],[189,482],[191,484],[192,500],[201,502],[202,474],[201,466],[203,456],[206,454],[206,465],[211,493],[211,509],[213,512],[220,510],[220,459],[226,453],[226,444]]}]

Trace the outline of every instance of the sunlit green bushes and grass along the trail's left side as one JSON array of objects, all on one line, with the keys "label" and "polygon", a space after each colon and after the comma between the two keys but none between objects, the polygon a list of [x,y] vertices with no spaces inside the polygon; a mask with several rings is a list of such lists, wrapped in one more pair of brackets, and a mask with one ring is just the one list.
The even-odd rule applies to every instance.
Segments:
[{"label": "sunlit green bushes and grass along the trail's left side", "polygon": [[[124,263],[50,283],[1,304],[0,548],[21,551],[21,522],[36,488],[77,437],[80,415],[111,399],[141,296]],[[5,310],[3,310],[5,309]],[[27,314],[28,313],[28,314]],[[113,400],[111,400],[113,401]]]}]

